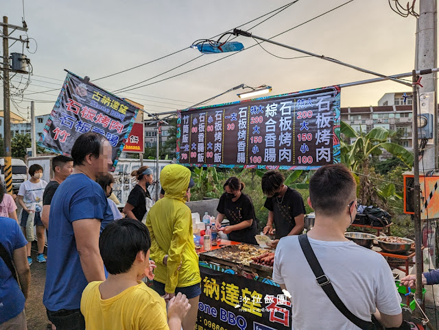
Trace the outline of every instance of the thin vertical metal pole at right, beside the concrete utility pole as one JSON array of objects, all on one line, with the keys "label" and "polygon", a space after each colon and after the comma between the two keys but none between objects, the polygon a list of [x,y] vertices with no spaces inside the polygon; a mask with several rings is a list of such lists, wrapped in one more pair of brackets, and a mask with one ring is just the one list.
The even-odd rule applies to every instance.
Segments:
[{"label": "thin vertical metal pole at right, beside the concrete utility pole", "polygon": [[[412,81],[413,84],[417,81],[416,71],[413,71]],[[419,184],[419,146],[418,146],[418,86],[413,85],[413,172],[414,172],[414,246],[416,255],[416,290],[415,299],[419,304],[422,304],[422,274],[423,274],[423,251],[421,241],[421,229],[420,229],[420,184]]]}]

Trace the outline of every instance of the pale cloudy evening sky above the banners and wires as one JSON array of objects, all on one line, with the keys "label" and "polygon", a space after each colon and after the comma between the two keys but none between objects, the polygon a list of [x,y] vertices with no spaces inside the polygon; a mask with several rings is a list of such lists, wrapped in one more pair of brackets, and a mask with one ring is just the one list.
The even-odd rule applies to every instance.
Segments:
[{"label": "pale cloudy evening sky above the banners and wires", "polygon": [[[29,50],[24,51],[31,61],[33,75],[24,91],[25,99],[14,97],[21,103],[16,105],[18,110],[11,104],[11,110],[24,118],[27,118],[30,100],[36,101],[36,115],[51,111],[66,75],[64,69],[81,77],[88,76],[94,84],[110,92],[149,79],[137,86],[154,84],[115,94],[143,104],[145,110],[152,113],[185,109],[239,84],[272,86],[271,95],[276,95],[374,78],[319,58],[276,58],[274,55],[294,58],[302,54],[263,43],[263,48],[274,54],[270,55],[252,38],[242,36],[235,41],[242,42],[246,50],[229,58],[225,57],[231,53],[197,58],[201,53],[189,48],[195,40],[213,38],[292,0],[22,1],[29,29],[27,35],[34,38]],[[21,25],[22,1],[0,0],[0,16],[8,16],[10,24]],[[305,23],[346,2],[348,0],[298,0],[267,21],[261,23],[272,14],[241,29],[261,23],[250,31],[255,36],[271,38],[300,25],[274,40],[385,75],[412,71],[416,18],[395,14],[388,1],[354,0]],[[12,36],[20,35],[24,36],[24,32],[15,31]],[[249,48],[252,45],[256,46]],[[19,42],[10,47],[10,53],[21,51]],[[180,52],[94,81],[175,51]],[[220,60],[222,58],[224,60]],[[193,61],[165,73],[189,60]],[[215,60],[219,61],[209,64]],[[204,64],[209,65],[156,82]],[[153,78],[156,75],[160,76]],[[12,83],[23,88],[27,79],[27,75],[18,74]],[[45,92],[55,88],[57,90]],[[392,81],[343,88],[342,107],[377,105],[385,92],[409,90]],[[237,92],[229,92],[207,104],[237,101]],[[3,98],[3,89],[0,95]],[[0,109],[3,110],[3,99]]]}]

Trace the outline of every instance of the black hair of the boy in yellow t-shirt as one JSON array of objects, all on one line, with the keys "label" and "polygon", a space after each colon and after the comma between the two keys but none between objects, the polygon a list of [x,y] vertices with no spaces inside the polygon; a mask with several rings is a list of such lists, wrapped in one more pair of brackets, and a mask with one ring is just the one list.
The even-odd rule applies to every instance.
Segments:
[{"label": "black hair of the boy in yellow t-shirt", "polygon": [[99,237],[99,251],[106,270],[112,274],[128,272],[137,253],[151,247],[150,232],[139,220],[111,221]]}]

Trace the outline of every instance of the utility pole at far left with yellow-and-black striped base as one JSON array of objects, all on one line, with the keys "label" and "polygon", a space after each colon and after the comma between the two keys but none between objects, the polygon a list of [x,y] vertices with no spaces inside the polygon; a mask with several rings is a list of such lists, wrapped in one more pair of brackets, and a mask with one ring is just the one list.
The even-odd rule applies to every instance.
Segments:
[{"label": "utility pole at far left with yellow-and-black striped base", "polygon": [[5,187],[12,194],[12,151],[11,151],[11,114],[9,86],[9,45],[8,16],[3,16],[3,120],[5,141]]}]

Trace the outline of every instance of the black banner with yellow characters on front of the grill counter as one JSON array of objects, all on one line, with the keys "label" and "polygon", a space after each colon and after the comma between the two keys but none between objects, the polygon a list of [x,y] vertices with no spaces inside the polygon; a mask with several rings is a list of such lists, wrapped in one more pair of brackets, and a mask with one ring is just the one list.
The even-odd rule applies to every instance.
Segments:
[{"label": "black banner with yellow characters on front of the grill counter", "polygon": [[291,329],[292,305],[281,288],[200,267],[195,329]]}]

